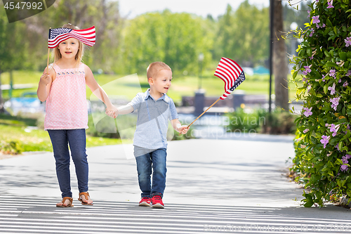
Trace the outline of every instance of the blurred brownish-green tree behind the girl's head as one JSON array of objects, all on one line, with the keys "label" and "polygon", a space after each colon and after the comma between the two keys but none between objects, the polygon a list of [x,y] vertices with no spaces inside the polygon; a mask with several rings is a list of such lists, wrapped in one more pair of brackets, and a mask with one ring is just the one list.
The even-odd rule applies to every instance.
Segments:
[{"label": "blurred brownish-green tree behind the girl's head", "polygon": [[62,27],[66,23],[79,28],[95,25],[96,44],[93,47],[86,46],[83,58],[92,70],[111,71],[118,63],[123,24],[118,1],[61,0],[48,10],[22,21],[27,26],[23,37],[33,45],[29,48],[29,53],[36,58],[34,69],[44,70],[46,67],[49,28]]}]

